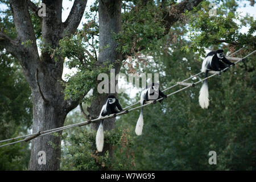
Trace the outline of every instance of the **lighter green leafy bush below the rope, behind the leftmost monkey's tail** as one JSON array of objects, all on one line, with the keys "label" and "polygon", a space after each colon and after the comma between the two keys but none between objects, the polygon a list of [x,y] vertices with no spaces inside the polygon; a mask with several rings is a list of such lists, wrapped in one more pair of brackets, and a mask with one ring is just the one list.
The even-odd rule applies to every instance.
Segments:
[{"label": "lighter green leafy bush below the rope, behind the leftmost monkey's tail", "polygon": [[[79,117],[78,113],[72,119]],[[85,127],[77,129],[72,134],[64,134],[63,170],[128,170],[135,167],[134,153],[130,148],[133,139],[129,130],[115,129],[104,132],[104,143],[110,143],[115,148],[114,158],[105,152],[99,155],[95,144],[96,131],[89,131]]]}]

